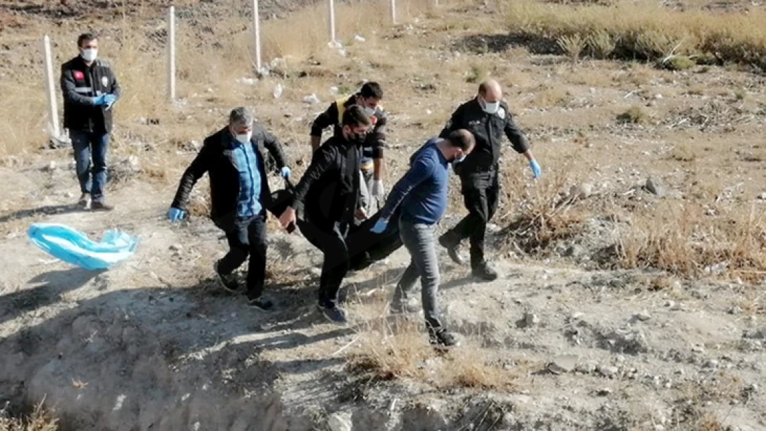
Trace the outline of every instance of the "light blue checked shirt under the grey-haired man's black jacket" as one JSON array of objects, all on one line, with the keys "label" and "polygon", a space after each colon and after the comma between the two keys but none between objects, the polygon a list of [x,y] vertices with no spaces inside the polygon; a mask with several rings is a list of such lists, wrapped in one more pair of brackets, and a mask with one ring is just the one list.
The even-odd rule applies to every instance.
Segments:
[{"label": "light blue checked shirt under the grey-haired man's black jacket", "polygon": [[240,194],[237,199],[238,217],[255,217],[263,210],[260,204],[260,171],[258,155],[252,142],[242,144],[231,139],[231,154],[240,178]]}]

